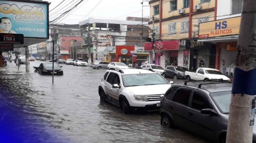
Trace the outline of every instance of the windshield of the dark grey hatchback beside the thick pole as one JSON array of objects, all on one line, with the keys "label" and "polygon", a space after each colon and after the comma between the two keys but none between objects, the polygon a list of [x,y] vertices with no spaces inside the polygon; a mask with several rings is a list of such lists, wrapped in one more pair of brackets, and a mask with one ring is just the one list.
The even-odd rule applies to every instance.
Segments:
[{"label": "windshield of the dark grey hatchback beside the thick pole", "polygon": [[213,92],[210,96],[222,113],[229,113],[231,91]]}]

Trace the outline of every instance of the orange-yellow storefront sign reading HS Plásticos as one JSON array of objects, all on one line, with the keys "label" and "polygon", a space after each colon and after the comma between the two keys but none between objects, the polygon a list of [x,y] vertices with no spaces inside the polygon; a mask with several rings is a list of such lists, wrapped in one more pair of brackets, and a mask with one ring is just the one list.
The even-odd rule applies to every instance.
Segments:
[{"label": "orange-yellow storefront sign reading HS Pl\u00e1sticos", "polygon": [[199,38],[238,35],[241,16],[199,24]]}]

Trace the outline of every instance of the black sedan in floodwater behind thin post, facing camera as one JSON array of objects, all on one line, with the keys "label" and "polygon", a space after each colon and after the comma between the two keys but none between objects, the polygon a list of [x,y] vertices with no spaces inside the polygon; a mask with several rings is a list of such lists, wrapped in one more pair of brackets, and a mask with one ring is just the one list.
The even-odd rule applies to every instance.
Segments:
[{"label": "black sedan in floodwater behind thin post, facing camera", "polygon": [[[61,69],[62,66],[59,66],[57,63],[54,63],[54,73],[53,74],[59,74],[63,75],[63,70]],[[52,63],[41,63],[38,67],[38,73],[39,74],[52,74]]]}]

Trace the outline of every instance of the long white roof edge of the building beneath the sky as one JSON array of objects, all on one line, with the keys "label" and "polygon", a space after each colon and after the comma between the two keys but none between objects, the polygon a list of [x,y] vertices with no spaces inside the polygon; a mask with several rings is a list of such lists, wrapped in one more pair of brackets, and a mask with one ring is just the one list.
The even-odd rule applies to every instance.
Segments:
[{"label": "long white roof edge of the building beneath the sky", "polygon": [[[93,23],[110,23],[110,24],[124,24],[124,25],[138,25],[142,24],[141,21],[126,21],[126,20],[115,20],[115,19],[96,19],[89,17],[87,20],[79,22],[79,26]],[[143,25],[148,25],[148,22],[143,22]]]}]

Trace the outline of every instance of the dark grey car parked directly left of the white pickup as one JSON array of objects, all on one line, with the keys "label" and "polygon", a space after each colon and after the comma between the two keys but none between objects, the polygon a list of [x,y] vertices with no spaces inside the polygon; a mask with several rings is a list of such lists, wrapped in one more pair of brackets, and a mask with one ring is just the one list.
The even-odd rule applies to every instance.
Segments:
[{"label": "dark grey car parked directly left of the white pickup", "polygon": [[167,66],[163,72],[163,77],[173,77],[174,80],[183,79],[185,78],[185,71],[189,70],[182,66]]}]

